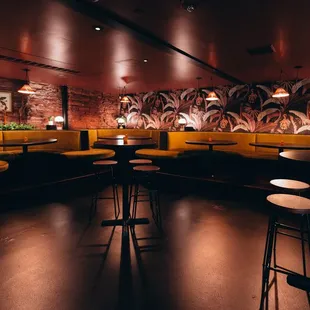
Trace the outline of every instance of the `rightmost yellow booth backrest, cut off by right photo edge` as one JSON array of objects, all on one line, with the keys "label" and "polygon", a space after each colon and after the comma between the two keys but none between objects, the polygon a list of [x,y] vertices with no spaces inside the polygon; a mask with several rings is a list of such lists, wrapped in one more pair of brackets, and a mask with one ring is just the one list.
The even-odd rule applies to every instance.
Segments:
[{"label": "rightmost yellow booth backrest, cut off by right photo edge", "polygon": [[[274,133],[258,133],[256,134],[256,142],[264,143],[293,143],[310,146],[310,135],[288,135],[288,134],[274,134]],[[278,149],[256,147],[256,152],[278,153]]]}]

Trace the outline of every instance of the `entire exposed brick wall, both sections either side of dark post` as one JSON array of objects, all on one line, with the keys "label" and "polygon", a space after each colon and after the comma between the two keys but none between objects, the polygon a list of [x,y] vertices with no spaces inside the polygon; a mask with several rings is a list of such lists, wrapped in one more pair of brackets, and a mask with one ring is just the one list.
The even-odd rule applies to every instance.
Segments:
[{"label": "entire exposed brick wall, both sections either side of dark post", "polygon": [[[28,123],[37,129],[45,129],[50,116],[62,115],[61,92],[59,86],[31,82],[36,90],[34,95],[22,95],[17,90],[24,81],[0,78],[0,91],[12,92],[13,111],[6,115],[0,109],[0,122]],[[116,128],[115,118],[119,114],[116,95],[106,95],[98,91],[68,88],[68,118],[70,129]],[[26,103],[26,116],[20,107]]]}]

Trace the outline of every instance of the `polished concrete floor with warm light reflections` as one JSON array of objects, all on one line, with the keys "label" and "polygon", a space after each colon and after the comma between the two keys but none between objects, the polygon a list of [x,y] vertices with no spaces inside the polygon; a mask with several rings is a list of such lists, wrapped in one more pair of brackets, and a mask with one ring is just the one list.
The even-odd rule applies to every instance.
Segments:
[{"label": "polished concrete floor with warm light reflections", "polygon": [[[121,228],[100,227],[112,218],[110,202],[100,202],[87,225],[90,196],[77,193],[39,204],[28,197],[0,214],[1,310],[259,308],[263,207],[225,193],[163,194],[165,237],[152,223],[137,227],[124,265]],[[139,215],[150,211],[142,206]],[[278,250],[280,264],[302,271],[298,241],[280,236]],[[270,309],[309,307],[306,294],[278,275]]]}]

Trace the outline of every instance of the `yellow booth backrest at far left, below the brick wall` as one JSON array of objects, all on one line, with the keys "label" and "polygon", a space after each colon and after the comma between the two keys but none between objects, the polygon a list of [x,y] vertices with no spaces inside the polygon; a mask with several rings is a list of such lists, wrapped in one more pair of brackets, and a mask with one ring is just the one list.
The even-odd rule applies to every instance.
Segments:
[{"label": "yellow booth backrest at far left, below the brick wall", "polygon": [[[3,141],[28,139],[57,139],[56,143],[30,146],[29,150],[54,150],[58,152],[80,150],[80,132],[71,130],[12,130],[2,131]],[[4,147],[5,151],[21,150],[21,147]]]}]

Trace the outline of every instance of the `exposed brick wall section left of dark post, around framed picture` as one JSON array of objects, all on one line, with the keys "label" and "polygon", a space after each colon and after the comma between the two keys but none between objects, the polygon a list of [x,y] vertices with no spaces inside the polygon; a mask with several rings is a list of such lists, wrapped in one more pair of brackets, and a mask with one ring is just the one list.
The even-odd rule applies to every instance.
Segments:
[{"label": "exposed brick wall section left of dark post, around framed picture", "polygon": [[[17,90],[24,81],[0,78],[0,91],[12,92],[12,112],[6,116],[0,111],[1,122],[29,123],[37,129],[45,128],[49,116],[62,115],[61,93],[58,86],[31,83],[36,90],[34,95],[22,95]],[[26,103],[26,115],[20,114],[22,102]]]}]

